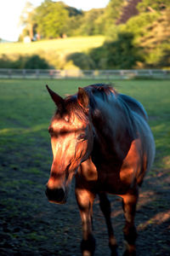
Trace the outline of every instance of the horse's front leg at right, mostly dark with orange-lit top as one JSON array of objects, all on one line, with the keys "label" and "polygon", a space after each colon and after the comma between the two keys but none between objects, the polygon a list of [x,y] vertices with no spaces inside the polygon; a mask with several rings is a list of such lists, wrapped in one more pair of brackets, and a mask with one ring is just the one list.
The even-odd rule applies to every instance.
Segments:
[{"label": "horse's front leg at right, mostly dark with orange-lit top", "polygon": [[138,201],[138,189],[127,195],[122,195],[122,207],[124,211],[124,217],[126,220],[123,232],[125,239],[125,250],[123,256],[135,256],[136,247],[135,241],[137,238],[137,232],[134,225],[134,216],[136,212],[136,204]]}]

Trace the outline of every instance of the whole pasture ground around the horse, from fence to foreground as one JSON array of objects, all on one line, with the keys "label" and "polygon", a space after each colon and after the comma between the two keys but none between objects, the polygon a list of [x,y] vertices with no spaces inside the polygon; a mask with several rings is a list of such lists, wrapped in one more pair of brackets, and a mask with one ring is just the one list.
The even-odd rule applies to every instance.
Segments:
[{"label": "whole pasture ground around the horse, from fence to foreground", "polygon": [[[66,205],[44,194],[52,152],[48,124],[54,113],[45,84],[61,96],[98,80],[0,80],[0,253],[80,255],[81,219],[74,185]],[[140,191],[136,226],[139,256],[170,254],[170,81],[112,81],[144,105],[156,141],[156,160]],[[112,223],[122,245],[122,201],[110,196]],[[96,256],[109,255],[105,219],[94,203]],[[119,247],[121,255],[122,247]]]}]

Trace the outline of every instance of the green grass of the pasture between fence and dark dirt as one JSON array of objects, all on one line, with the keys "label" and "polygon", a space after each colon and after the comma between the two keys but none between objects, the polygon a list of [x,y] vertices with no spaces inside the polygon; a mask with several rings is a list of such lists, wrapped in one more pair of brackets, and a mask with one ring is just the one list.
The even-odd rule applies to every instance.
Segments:
[{"label": "green grass of the pasture between fence and dark dirt", "polygon": [[[16,158],[19,163],[22,163],[23,155],[29,156],[29,154],[37,166],[44,157],[49,161],[49,157],[46,158],[46,147],[50,143],[47,129],[55,107],[48,96],[45,84],[57,91],[59,95],[65,96],[75,93],[79,86],[97,82],[96,80],[1,80],[0,154],[3,158],[8,158],[8,154],[14,151],[12,158]],[[155,166],[158,169],[168,168],[170,82],[132,80],[114,81],[114,84],[116,90],[135,97],[144,105],[150,116],[150,126],[156,140]],[[45,147],[39,148],[38,145],[43,144]],[[13,164],[12,161],[11,165]],[[30,168],[32,173],[36,173],[32,166]]]}]

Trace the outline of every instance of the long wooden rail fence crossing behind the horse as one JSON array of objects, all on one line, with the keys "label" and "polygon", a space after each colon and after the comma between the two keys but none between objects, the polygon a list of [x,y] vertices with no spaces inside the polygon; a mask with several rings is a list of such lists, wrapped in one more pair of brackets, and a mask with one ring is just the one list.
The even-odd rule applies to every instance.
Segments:
[{"label": "long wooden rail fence crossing behind the horse", "polygon": [[170,79],[170,70],[54,70],[0,68],[0,79]]}]

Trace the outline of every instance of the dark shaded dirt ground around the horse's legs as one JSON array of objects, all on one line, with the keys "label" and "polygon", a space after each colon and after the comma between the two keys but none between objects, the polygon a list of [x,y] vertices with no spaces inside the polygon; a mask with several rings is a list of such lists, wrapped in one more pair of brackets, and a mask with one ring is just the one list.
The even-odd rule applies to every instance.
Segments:
[{"label": "dark shaded dirt ground around the horse's legs", "polygon": [[[48,180],[47,166],[42,166],[41,172],[36,172],[37,163],[34,172],[27,172],[28,165],[35,166],[29,160],[29,155],[27,158],[27,163],[23,160],[20,164],[7,157],[1,161],[0,255],[81,255],[81,219],[74,195],[74,182],[65,205],[50,204],[44,194]],[[170,255],[169,191],[169,170],[153,170],[145,177],[136,214],[139,256]],[[116,196],[109,197],[112,224],[121,255],[124,224],[122,201]],[[99,209],[98,197],[94,203],[94,236],[97,243],[95,255],[110,255],[105,219]]]}]

